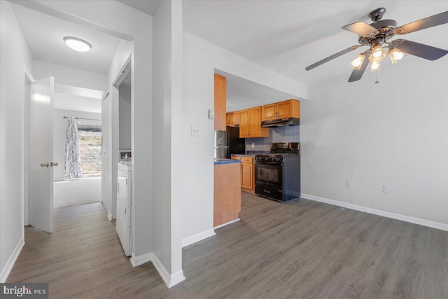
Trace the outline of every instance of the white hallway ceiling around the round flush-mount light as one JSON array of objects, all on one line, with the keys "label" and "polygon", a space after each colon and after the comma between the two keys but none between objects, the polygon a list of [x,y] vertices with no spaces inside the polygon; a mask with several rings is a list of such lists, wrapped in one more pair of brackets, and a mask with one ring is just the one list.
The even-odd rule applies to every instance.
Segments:
[{"label": "white hallway ceiling around the round flush-mount light", "polygon": [[[18,4],[11,3],[11,7],[35,60],[106,74],[120,39]],[[64,36],[84,39],[92,49],[84,53],[71,50]]]}]

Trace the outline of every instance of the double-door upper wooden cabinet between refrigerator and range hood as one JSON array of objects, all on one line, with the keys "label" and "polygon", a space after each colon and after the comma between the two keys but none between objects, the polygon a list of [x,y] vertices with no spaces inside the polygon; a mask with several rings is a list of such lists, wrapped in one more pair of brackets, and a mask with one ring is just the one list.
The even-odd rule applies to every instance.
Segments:
[{"label": "double-door upper wooden cabinet between refrigerator and range hood", "polygon": [[239,137],[269,137],[269,128],[261,127],[261,107],[239,111]]}]

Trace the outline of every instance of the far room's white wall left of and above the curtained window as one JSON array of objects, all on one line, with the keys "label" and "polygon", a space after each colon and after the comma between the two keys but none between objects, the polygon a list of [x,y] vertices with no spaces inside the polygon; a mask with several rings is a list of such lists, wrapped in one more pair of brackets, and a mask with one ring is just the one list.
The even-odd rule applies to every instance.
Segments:
[{"label": "far room's white wall left of and above the curtained window", "polygon": [[[91,118],[99,120],[98,122],[86,121],[89,123],[101,123],[101,113],[88,113],[72,110],[55,109],[53,113],[53,162],[58,166],[53,167],[53,181],[64,180],[64,155],[65,155],[65,136],[67,128],[67,119],[64,116],[73,116],[76,118]],[[79,120],[84,122],[83,120]]]}]

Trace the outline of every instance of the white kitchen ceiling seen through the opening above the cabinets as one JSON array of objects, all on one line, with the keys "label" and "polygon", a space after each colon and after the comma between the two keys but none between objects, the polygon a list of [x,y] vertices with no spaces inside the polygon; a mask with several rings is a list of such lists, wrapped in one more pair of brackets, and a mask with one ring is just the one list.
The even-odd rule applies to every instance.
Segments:
[{"label": "white kitchen ceiling seen through the opening above the cabinets", "polygon": [[281,102],[286,99],[297,99],[293,95],[228,74],[225,71],[215,69],[215,73],[227,78],[227,112]]}]

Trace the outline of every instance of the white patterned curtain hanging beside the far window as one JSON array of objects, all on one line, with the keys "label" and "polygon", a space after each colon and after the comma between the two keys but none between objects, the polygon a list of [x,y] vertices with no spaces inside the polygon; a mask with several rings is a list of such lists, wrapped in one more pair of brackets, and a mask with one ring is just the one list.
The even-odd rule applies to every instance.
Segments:
[{"label": "white patterned curtain hanging beside the far window", "polygon": [[83,177],[81,157],[79,153],[78,120],[69,116],[65,135],[65,167],[64,179]]}]

